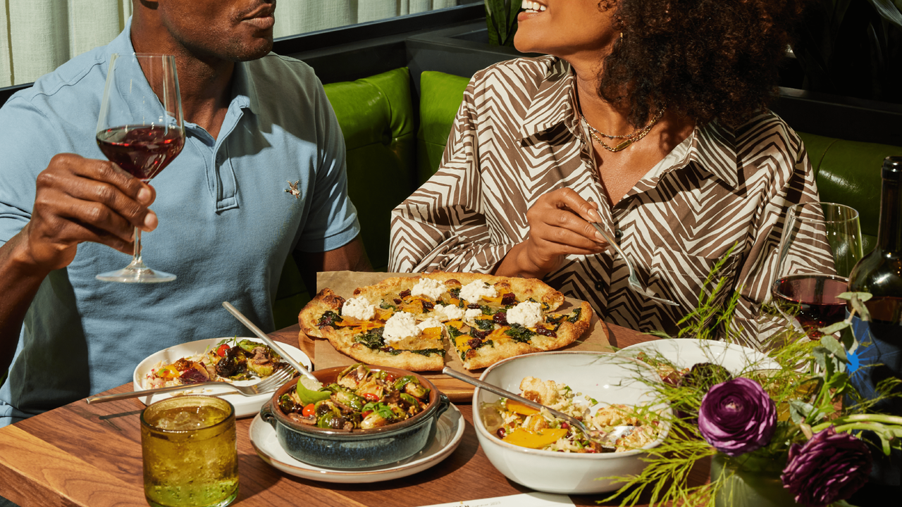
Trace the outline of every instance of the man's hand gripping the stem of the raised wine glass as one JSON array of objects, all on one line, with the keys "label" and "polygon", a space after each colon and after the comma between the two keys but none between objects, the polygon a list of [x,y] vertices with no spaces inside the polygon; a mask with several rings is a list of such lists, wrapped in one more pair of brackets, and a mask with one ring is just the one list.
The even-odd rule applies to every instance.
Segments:
[{"label": "man's hand gripping the stem of the raised wine glass", "polygon": [[152,231],[156,198],[150,185],[113,162],[60,153],[37,179],[32,219],[20,235],[40,271],[69,265],[79,243],[106,244],[133,253],[134,227]]}]

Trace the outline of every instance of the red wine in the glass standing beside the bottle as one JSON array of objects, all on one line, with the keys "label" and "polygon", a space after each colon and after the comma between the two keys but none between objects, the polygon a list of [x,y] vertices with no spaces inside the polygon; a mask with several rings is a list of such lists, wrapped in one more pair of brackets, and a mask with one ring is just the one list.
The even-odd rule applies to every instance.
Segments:
[{"label": "red wine in the glass standing beside the bottle", "polygon": [[824,336],[817,329],[845,318],[846,300],[837,298],[846,291],[846,279],[825,274],[796,274],[779,278],[772,293],[775,302],[793,315],[813,338]]}]

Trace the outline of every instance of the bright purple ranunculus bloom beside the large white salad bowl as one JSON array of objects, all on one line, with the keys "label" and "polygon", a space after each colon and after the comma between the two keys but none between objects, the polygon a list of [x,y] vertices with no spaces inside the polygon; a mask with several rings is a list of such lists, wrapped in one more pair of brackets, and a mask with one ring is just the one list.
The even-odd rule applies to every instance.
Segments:
[{"label": "bright purple ranunculus bloom beside the large white salad bowl", "polygon": [[777,428],[777,407],[761,386],[746,378],[719,383],[702,398],[698,429],[727,456],[768,445]]}]

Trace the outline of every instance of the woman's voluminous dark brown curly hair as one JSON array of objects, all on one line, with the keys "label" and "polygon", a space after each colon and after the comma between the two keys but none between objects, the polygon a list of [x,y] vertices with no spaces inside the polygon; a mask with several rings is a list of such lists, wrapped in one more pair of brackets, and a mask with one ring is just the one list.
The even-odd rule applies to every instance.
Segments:
[{"label": "woman's voluminous dark brown curly hair", "polygon": [[805,0],[601,0],[622,37],[598,91],[645,124],[667,106],[707,124],[739,125],[776,96],[778,69]]}]

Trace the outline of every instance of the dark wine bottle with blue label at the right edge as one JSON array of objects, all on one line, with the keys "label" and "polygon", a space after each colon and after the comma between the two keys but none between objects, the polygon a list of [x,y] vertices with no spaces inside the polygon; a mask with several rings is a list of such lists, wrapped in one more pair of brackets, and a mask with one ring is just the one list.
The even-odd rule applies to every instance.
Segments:
[{"label": "dark wine bottle with blue label at the right edge", "polygon": [[[877,384],[890,377],[902,378],[902,157],[887,157],[881,170],[880,226],[877,246],[861,258],[849,275],[849,290],[870,292],[865,303],[870,322],[856,315],[852,328],[860,348],[850,356],[852,384],[867,399],[877,396]],[[879,401],[874,410],[902,416],[902,398]],[[867,436],[866,436],[867,438]],[[874,457],[870,483],[851,500],[870,505],[870,500],[902,491],[900,453],[884,456],[879,440],[869,446]],[[898,496],[895,496],[898,498]]]}]

